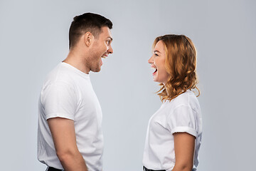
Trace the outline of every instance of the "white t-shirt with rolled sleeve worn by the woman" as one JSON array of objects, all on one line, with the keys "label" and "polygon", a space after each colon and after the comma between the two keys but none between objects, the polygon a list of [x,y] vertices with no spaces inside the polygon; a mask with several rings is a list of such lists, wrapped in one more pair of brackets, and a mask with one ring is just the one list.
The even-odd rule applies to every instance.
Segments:
[{"label": "white t-shirt with rolled sleeve worn by the woman", "polygon": [[198,150],[202,138],[201,109],[196,95],[187,90],[167,100],[151,116],[146,133],[143,165],[150,170],[171,171],[175,165],[174,133],[196,137],[193,170],[198,166]]}]

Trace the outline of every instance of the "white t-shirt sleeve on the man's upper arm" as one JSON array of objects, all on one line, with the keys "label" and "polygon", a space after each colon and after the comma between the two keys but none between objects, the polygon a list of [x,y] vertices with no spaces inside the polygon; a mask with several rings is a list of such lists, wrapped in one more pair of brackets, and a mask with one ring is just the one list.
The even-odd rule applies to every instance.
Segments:
[{"label": "white t-shirt sleeve on the man's upper arm", "polygon": [[77,98],[75,90],[68,83],[56,82],[48,85],[41,92],[41,103],[46,120],[56,117],[74,120]]}]

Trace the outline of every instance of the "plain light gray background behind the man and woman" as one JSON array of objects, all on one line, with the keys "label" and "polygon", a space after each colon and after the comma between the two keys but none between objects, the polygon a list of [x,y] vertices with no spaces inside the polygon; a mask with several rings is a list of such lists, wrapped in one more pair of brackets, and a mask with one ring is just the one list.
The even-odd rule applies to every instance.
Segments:
[{"label": "plain light gray background behind the man and woman", "polygon": [[147,63],[156,36],[182,33],[198,51],[203,142],[198,170],[255,170],[255,1],[0,1],[1,170],[45,170],[36,159],[37,103],[68,54],[75,15],[114,23],[114,54],[92,84],[103,111],[105,171],[142,170],[146,126],[161,102]]}]

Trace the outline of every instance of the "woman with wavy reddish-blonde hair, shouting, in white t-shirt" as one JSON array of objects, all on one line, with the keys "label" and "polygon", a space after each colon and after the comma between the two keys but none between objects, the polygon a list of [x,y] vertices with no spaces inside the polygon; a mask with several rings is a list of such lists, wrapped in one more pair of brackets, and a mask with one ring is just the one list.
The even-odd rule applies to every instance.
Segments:
[{"label": "woman with wavy reddish-blonde hair, shouting, in white t-shirt", "polygon": [[160,83],[158,95],[163,104],[151,116],[146,134],[144,170],[196,170],[201,145],[201,109],[195,93],[196,48],[183,35],[155,39],[154,81]]}]

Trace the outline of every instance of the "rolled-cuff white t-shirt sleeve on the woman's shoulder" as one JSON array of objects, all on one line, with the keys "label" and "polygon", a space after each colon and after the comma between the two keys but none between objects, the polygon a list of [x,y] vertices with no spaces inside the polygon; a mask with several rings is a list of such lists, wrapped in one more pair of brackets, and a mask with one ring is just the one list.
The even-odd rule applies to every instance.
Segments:
[{"label": "rolled-cuff white t-shirt sleeve on the woman's shoulder", "polygon": [[189,133],[197,137],[197,121],[196,115],[188,105],[180,105],[175,108],[174,112],[169,115],[168,125],[171,134],[174,133]]}]

